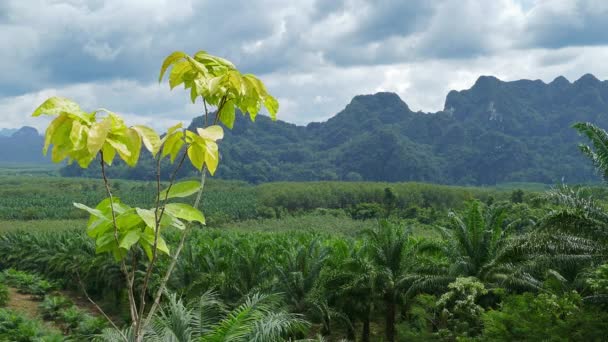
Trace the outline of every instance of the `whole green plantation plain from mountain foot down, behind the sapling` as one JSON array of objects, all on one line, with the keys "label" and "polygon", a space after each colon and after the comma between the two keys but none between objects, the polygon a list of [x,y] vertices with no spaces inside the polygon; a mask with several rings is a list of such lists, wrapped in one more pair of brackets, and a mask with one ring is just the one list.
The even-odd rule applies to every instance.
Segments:
[{"label": "whole green plantation plain from mountain foot down, behind the sapling", "polygon": [[[115,322],[126,323],[120,269],[108,254],[95,253],[94,242],[85,233],[87,216],[72,206],[95,206],[104,198],[103,183],[16,170],[14,175],[0,174],[0,271],[5,274],[0,274],[0,306],[3,282],[8,284],[7,293],[21,288],[32,297],[20,295],[26,296],[19,297],[23,302],[13,300],[7,309],[0,308],[0,316],[11,317],[15,326],[30,324],[40,336],[59,331],[78,338],[98,334],[107,323],[87,301],[78,299],[82,281]],[[129,204],[150,207],[154,202],[153,183],[118,180],[111,185]],[[280,310],[286,310],[279,312],[301,315],[307,322],[300,338],[360,340],[358,336],[366,334],[380,341],[392,326],[397,340],[453,340],[470,334],[476,336],[472,340],[517,340],[538,334],[538,326],[554,326],[546,333],[550,335],[541,333],[538,338],[574,332],[593,340],[608,331],[608,314],[582,300],[603,294],[601,288],[588,286],[604,281],[593,266],[602,258],[592,249],[600,246],[580,240],[590,237],[584,230],[575,232],[579,240],[547,235],[555,229],[567,231],[559,225],[560,215],[574,213],[568,201],[555,200],[547,189],[520,183],[254,186],[210,180],[203,198],[207,226],[191,228],[169,290],[192,303],[212,290],[213,298],[234,310],[248,296],[278,293]],[[592,195],[594,208],[605,207],[607,192],[602,187],[564,191],[563,198]],[[592,202],[581,203],[587,203],[585,210],[591,208]],[[496,229],[504,233],[490,234]],[[175,229],[165,231],[171,250],[179,235]],[[554,273],[545,273],[548,260]],[[138,268],[146,265],[145,258],[136,262]],[[160,258],[159,273],[168,263],[168,258]],[[560,286],[570,292],[556,290],[561,287],[555,287],[552,274],[559,274]],[[589,280],[581,283],[583,274]],[[48,290],[46,279],[52,284]],[[465,304],[457,304],[465,298],[475,298],[462,302],[476,312],[472,316],[460,311]],[[77,304],[68,310],[57,308],[57,301]],[[28,306],[30,316],[45,323],[28,323],[20,316],[22,307]],[[403,316],[388,323],[385,315],[393,306]],[[544,315],[548,306],[566,314],[549,318]],[[443,316],[438,308],[451,316]],[[526,320],[513,318],[524,315]],[[503,330],[506,324],[515,332]]]}]

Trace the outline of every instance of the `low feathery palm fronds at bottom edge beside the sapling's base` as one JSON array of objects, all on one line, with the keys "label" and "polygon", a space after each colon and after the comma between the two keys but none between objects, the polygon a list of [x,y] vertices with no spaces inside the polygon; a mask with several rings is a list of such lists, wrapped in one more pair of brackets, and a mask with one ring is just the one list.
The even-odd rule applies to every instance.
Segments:
[{"label": "low feathery palm fronds at bottom edge beside the sapling's base", "polygon": [[[175,294],[155,316],[146,341],[220,342],[220,341],[284,341],[302,334],[308,323],[299,315],[281,309],[276,295],[253,294],[231,311],[212,292],[185,304]],[[115,341],[120,334],[108,329],[97,341]],[[129,330],[122,332],[131,336]]]}]

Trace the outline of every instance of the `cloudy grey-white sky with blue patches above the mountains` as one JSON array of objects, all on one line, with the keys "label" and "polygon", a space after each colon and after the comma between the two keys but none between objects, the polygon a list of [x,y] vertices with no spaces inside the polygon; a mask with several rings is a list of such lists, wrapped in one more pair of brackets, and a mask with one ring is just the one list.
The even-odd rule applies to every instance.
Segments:
[{"label": "cloudy grey-white sky with blue patches above the mountains", "polygon": [[254,73],[279,119],[324,121],[359,94],[443,109],[449,90],[585,73],[608,79],[605,0],[1,0],[0,128],[42,129],[50,96],[159,130],[201,112],[158,83],[173,51]]}]

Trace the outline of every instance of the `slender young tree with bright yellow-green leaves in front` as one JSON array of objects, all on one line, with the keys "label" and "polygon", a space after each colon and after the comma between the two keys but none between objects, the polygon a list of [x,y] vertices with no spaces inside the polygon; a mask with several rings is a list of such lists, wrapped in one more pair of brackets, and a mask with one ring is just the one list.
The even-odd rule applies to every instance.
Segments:
[{"label": "slender young tree with bright yellow-green leaves in front", "polygon": [[[101,165],[101,177],[108,197],[95,208],[79,203],[74,205],[90,214],[87,234],[95,240],[96,252],[110,253],[120,264],[127,284],[130,335],[135,341],[143,340],[155,317],[189,229],[205,224],[205,217],[198,207],[207,172],[213,175],[219,163],[218,141],[224,136],[219,123],[231,129],[236,109],[249,115],[253,121],[262,106],[274,120],[279,107],[258,78],[241,74],[229,61],[205,51],[193,56],[183,52],[172,53],[162,64],[159,81],[169,69],[171,89],[183,84],[190,91],[193,103],[199,99],[202,102],[205,119],[196,132],[184,129],[180,123],[161,137],[150,127],[127,126],[116,113],[106,109],[86,112],[77,103],[61,97],[46,100],[32,114],[35,117],[43,114],[55,116],[46,130],[43,149],[46,154],[52,145],[53,162],[67,159],[68,163],[76,162],[86,168],[97,160]],[[216,108],[215,115],[210,115],[209,106]],[[113,195],[106,173],[106,168],[112,165],[116,156],[131,167],[137,165],[142,145],[155,158],[156,164],[156,199],[152,208],[134,208],[123,203]],[[168,186],[162,189],[160,165],[161,160],[167,157],[175,166]],[[200,181],[176,181],[186,159],[200,171]],[[192,205],[174,202],[192,195],[196,195]],[[182,231],[173,252],[162,234],[168,227]],[[139,250],[143,250],[147,257],[143,276],[136,276]],[[151,289],[150,279],[161,254],[168,255],[171,262],[159,286]],[[152,290],[155,291],[153,302],[147,305],[147,294]],[[101,308],[98,309],[103,313]],[[114,327],[123,340],[131,339]]]}]

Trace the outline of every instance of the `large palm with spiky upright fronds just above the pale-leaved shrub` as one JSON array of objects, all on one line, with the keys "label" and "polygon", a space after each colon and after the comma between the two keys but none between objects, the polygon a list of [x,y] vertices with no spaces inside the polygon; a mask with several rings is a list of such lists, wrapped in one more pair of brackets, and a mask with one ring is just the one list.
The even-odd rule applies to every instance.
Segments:
[{"label": "large palm with spiky upright fronds just above the pale-leaved shrub", "polygon": [[511,236],[504,210],[482,209],[469,203],[463,217],[450,213],[452,229],[444,230],[445,253],[453,262],[447,274],[472,276],[488,287],[510,290],[538,290],[546,270],[567,269],[589,260],[596,244],[568,234],[549,233],[541,225],[528,234]]}]

